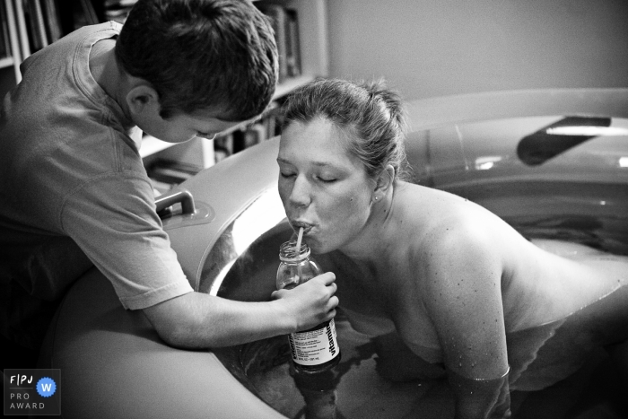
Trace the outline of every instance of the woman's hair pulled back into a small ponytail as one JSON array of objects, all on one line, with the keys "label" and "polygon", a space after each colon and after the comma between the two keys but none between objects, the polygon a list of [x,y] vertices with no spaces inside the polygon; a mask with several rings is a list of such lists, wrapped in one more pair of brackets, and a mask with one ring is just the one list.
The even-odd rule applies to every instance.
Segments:
[{"label": "woman's hair pulled back into a small ponytail", "polygon": [[406,112],[397,92],[383,80],[320,79],[292,92],[283,105],[283,127],[315,118],[327,119],[345,134],[348,150],[362,161],[371,178],[388,164],[395,168],[396,179],[408,177]]}]

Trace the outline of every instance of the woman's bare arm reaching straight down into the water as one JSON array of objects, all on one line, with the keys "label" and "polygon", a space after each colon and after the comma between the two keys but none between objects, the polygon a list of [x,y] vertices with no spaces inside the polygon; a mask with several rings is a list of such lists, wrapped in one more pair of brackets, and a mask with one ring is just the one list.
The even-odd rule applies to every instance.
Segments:
[{"label": "woman's bare arm reaching straight down into the water", "polygon": [[456,417],[510,417],[498,245],[469,223],[436,230],[422,250],[423,301],[444,353]]}]

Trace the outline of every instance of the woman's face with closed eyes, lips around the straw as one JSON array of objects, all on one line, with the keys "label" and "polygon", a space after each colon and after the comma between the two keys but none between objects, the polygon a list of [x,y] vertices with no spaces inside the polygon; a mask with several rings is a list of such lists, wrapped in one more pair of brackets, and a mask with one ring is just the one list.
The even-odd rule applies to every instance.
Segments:
[{"label": "woman's face with closed eyes, lips around the straw", "polygon": [[371,214],[375,182],[344,135],[327,119],[293,122],[279,145],[279,195],[292,228],[315,253],[343,249],[358,238]]}]

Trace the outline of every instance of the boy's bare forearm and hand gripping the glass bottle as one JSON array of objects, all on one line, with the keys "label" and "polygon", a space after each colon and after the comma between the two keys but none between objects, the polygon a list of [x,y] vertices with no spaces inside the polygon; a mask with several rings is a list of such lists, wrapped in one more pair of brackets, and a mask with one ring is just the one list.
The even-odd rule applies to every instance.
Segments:
[{"label": "boy's bare forearm and hand gripping the glass bottle", "polygon": [[144,309],[169,345],[185,348],[239,345],[314,327],[336,315],[335,275],[327,273],[292,290],[274,292],[274,301],[231,301],[188,292]]}]

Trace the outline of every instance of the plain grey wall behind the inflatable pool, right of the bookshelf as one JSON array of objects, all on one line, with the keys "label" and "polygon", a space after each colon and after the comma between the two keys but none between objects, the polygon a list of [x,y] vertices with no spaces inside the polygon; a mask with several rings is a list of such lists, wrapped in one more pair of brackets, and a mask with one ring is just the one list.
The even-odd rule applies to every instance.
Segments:
[{"label": "plain grey wall behind the inflatable pool, right of the bookshelf", "polygon": [[406,100],[628,86],[624,0],[329,0],[330,75]]}]

